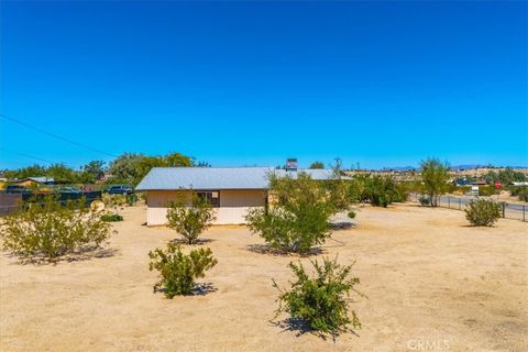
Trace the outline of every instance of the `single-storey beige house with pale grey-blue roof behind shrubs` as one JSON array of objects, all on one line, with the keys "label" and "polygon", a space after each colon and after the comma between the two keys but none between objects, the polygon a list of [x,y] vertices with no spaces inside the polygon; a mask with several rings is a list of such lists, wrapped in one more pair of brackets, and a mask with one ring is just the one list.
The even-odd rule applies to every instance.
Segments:
[{"label": "single-storey beige house with pale grey-blue roof behind shrubs", "polygon": [[216,208],[216,224],[245,222],[250,208],[268,201],[268,177],[297,177],[305,172],[314,179],[332,178],[331,169],[276,169],[273,167],[154,167],[135,187],[146,194],[146,224],[167,222],[167,202],[196,194]]}]

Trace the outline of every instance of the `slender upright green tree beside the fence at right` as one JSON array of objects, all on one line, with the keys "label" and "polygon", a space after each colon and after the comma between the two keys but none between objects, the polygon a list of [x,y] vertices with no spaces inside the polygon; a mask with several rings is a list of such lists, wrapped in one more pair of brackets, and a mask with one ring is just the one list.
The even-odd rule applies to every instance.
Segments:
[{"label": "slender upright green tree beside the fence at right", "polygon": [[448,189],[449,166],[438,158],[421,162],[421,179],[424,190],[429,196],[431,207],[438,207],[440,195]]}]

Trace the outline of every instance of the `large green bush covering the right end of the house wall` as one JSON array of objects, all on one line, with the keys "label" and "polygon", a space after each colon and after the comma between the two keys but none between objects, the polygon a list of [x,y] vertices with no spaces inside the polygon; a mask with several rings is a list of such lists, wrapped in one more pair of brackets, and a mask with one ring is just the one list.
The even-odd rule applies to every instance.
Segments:
[{"label": "large green bush covering the right end of the house wall", "polygon": [[307,253],[326,241],[331,230],[329,219],[339,208],[322,183],[305,173],[296,179],[272,175],[270,188],[273,204],[250,209],[245,217],[253,233],[286,252]]}]

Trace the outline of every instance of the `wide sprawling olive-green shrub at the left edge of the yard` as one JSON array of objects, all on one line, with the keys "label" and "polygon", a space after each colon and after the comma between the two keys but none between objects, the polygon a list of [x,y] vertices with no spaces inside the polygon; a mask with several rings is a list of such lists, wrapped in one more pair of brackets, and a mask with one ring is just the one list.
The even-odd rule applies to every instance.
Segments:
[{"label": "wide sprawling olive-green shrub at the left edge of the yard", "polygon": [[85,198],[61,204],[48,195],[38,204],[3,219],[3,248],[21,257],[55,261],[62,255],[99,246],[110,235],[110,224],[85,207]]}]

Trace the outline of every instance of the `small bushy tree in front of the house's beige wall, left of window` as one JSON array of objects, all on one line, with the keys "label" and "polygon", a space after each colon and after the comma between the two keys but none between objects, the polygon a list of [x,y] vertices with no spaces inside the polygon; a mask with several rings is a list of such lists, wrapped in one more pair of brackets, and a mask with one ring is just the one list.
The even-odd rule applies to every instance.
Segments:
[{"label": "small bushy tree in front of the house's beige wall, left of window", "polygon": [[185,199],[169,202],[168,227],[184,237],[188,244],[195,244],[205,230],[216,220],[215,209],[205,197],[193,197],[189,205]]}]

